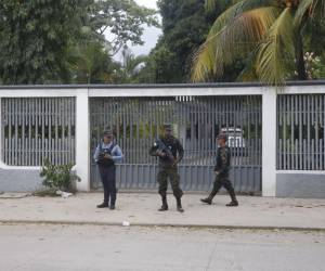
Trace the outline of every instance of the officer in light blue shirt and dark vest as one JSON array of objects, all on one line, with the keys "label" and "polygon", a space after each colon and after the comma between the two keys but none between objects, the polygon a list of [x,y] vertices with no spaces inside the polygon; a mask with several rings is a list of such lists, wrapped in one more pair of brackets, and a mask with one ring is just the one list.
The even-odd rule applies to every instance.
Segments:
[{"label": "officer in light blue shirt and dark vest", "polygon": [[[113,132],[105,131],[103,141],[98,145],[94,153],[94,160],[99,165],[101,180],[104,189],[104,202],[98,208],[115,209],[116,203],[116,167],[115,163],[120,162],[123,154],[120,147],[113,141]],[[110,199],[110,203],[109,203]]]}]

